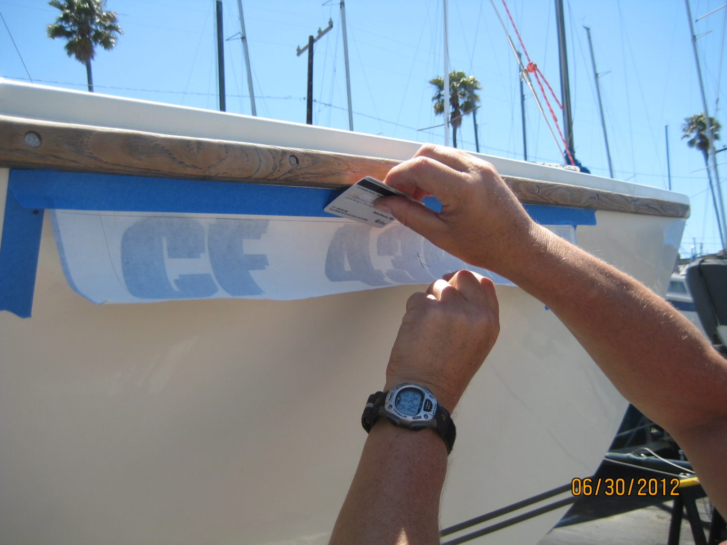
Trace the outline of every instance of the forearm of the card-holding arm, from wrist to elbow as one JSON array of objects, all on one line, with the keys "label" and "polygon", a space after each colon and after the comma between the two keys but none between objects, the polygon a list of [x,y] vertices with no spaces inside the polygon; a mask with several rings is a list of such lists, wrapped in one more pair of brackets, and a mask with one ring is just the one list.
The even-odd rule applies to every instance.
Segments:
[{"label": "forearm of the card-holding arm, from wrist to elbow", "polygon": [[529,248],[507,278],[547,304],[643,413],[672,434],[727,413],[726,363],[670,304],[545,229]]}]

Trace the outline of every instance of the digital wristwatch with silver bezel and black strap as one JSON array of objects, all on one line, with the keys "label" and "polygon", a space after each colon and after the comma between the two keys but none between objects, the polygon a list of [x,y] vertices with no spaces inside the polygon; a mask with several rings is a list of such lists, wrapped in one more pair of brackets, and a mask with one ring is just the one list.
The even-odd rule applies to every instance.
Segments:
[{"label": "digital wristwatch with silver bezel and black strap", "polygon": [[395,426],[414,431],[436,429],[447,445],[448,454],[454,446],[457,429],[449,411],[438,403],[432,392],[419,384],[405,382],[387,392],[369,395],[364,414],[361,415],[361,425],[366,432],[371,431],[379,416],[385,416]]}]

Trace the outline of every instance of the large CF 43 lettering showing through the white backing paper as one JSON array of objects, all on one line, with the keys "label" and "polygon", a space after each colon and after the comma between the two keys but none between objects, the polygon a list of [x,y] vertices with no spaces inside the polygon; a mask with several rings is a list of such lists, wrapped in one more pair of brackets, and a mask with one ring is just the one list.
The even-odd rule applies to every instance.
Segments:
[{"label": "large CF 43 lettering showing through the white backing paper", "polygon": [[[261,295],[263,277],[257,277],[261,288],[251,272],[265,270],[270,263],[268,254],[249,251],[249,241],[259,240],[268,227],[266,219],[139,219],[121,236],[121,273],[126,288],[141,299],[204,299],[220,291],[237,297]],[[308,249],[287,237],[279,238],[268,253],[274,263],[278,254],[289,251],[305,253]],[[331,282],[377,287],[430,283],[460,267],[462,262],[457,258],[403,225],[379,230],[347,224],[333,233],[326,251],[325,275]],[[316,269],[286,273],[315,275]]]}]

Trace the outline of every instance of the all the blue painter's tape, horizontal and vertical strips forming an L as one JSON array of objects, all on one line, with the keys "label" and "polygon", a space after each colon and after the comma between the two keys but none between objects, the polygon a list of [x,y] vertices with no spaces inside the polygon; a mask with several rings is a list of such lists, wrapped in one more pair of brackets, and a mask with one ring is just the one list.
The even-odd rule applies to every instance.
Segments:
[{"label": "all the blue painter's tape, horizontal and vertical strips forming an L", "polygon": [[[341,190],[50,170],[10,171],[0,249],[0,310],[27,318],[33,306],[44,209],[334,217]],[[441,203],[427,197],[434,211]],[[542,225],[595,225],[595,211],[526,205]],[[37,212],[36,212],[37,211]]]}]

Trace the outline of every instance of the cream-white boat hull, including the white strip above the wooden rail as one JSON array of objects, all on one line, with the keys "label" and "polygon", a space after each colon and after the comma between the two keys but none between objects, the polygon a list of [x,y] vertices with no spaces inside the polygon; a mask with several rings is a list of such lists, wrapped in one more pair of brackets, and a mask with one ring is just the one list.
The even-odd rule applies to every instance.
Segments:
[{"label": "cream-white boat hull, including the white strip above the wooden rail", "polygon": [[[265,121],[244,116],[17,84],[1,84],[0,97],[15,115],[272,140],[260,136]],[[311,140],[295,145],[311,148],[324,148],[332,132],[300,130]],[[371,156],[405,158],[416,148],[340,134],[336,145]],[[501,166],[684,201],[518,161]],[[683,220],[596,217],[598,225],[578,228],[579,245],[665,291]],[[33,318],[0,312],[0,541],[326,543],[366,438],[361,410],[384,383],[416,289],[95,305],[65,281],[46,217]],[[454,414],[443,527],[590,475],[626,407],[550,310],[519,288],[497,294],[502,333]],[[564,511],[472,542],[535,543]]]}]

